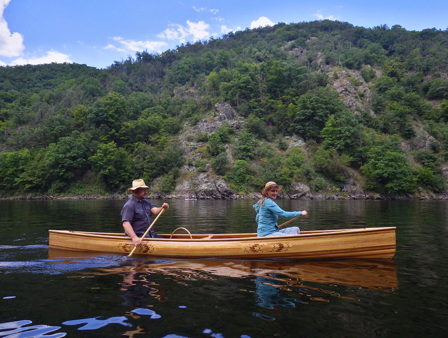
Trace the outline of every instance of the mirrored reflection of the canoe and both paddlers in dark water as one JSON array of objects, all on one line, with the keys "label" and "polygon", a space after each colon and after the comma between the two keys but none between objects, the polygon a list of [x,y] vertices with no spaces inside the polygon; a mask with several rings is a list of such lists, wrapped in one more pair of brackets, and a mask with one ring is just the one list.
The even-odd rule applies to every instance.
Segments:
[{"label": "mirrored reflection of the canoe and both paddlers in dark water", "polygon": [[[312,301],[329,302],[329,297],[358,301],[357,290],[371,289],[393,292],[398,288],[392,259],[347,259],[345,261],[145,261],[132,265],[101,268],[103,273],[125,272],[122,290],[126,305],[145,307],[148,296],[167,300],[161,285],[152,280],[155,274],[184,283],[199,279],[223,277],[255,277],[255,304],[268,310],[295,307]],[[325,285],[322,285],[325,284]],[[347,290],[349,287],[349,290]],[[347,295],[348,293],[348,295]],[[361,292],[362,293],[362,292]],[[168,293],[167,293],[168,294]],[[275,320],[278,313],[252,315]]]}]

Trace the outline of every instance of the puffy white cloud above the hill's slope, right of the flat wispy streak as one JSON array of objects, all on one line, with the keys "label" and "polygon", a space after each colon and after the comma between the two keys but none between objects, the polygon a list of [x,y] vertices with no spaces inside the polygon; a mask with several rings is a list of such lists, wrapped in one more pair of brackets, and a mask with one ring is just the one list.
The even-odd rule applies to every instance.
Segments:
[{"label": "puffy white cloud above the hill's slope, right of the flat wispy streak", "polygon": [[185,27],[177,23],[171,24],[170,26],[170,28],[157,35],[157,37],[177,40],[179,43],[184,43],[189,39],[197,41],[210,37],[210,33],[207,31],[210,25],[204,21],[192,22],[187,20]]}]

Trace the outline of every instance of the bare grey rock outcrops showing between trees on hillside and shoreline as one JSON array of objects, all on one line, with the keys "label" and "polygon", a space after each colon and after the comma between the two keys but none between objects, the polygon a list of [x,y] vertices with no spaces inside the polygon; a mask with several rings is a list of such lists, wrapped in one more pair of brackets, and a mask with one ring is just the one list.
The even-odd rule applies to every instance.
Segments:
[{"label": "bare grey rock outcrops showing between trees on hillside and shoreline", "polygon": [[[299,57],[305,51],[301,51]],[[368,112],[374,115],[371,104],[371,91],[368,84],[364,81],[361,72],[356,70],[342,69],[339,67],[330,68],[322,66],[322,71],[327,72],[329,85],[339,93],[340,99],[353,114]],[[377,76],[381,76],[379,70],[374,70]],[[180,178],[176,182],[175,191],[166,195],[158,193],[158,183],[153,187],[152,198],[185,198],[187,196],[198,199],[258,199],[261,197],[259,192],[249,194],[238,194],[229,187],[229,184],[222,176],[217,175],[211,170],[209,164],[205,165],[202,171],[199,171],[194,165],[195,161],[202,159],[202,153],[206,144],[197,141],[196,137],[201,133],[210,135],[217,131],[224,123],[229,125],[235,131],[239,131],[244,122],[244,117],[240,116],[229,103],[216,103],[213,115],[207,116],[194,125],[184,125],[183,131],[179,134],[179,145],[183,149],[185,165],[182,166]],[[417,149],[429,149],[434,138],[424,131],[419,125],[413,126],[416,136],[403,142],[404,152]],[[288,148],[305,147],[305,142],[299,137],[286,138]],[[202,150],[202,151],[201,151]],[[232,152],[226,145],[226,153],[229,162],[234,161]],[[363,179],[361,175],[352,170],[351,177],[340,191],[323,193],[313,192],[310,187],[300,182],[293,182],[291,189],[283,191],[279,198],[287,199],[446,199],[446,194],[431,194],[421,192],[416,195],[386,196],[374,194],[363,189]],[[448,168],[443,168],[443,175],[448,182]]]}]

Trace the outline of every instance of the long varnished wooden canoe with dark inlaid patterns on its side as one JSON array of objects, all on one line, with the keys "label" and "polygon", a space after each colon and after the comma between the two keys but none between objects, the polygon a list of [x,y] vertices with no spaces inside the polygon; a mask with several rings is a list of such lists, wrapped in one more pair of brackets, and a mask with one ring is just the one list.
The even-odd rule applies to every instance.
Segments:
[{"label": "long varnished wooden canoe with dark inlaid patterns on its side", "polygon": [[[176,229],[177,230],[177,229]],[[128,254],[123,233],[49,230],[50,248]],[[220,258],[392,258],[395,227],[302,231],[300,235],[256,237],[256,233],[159,234],[134,254],[158,257]]]}]

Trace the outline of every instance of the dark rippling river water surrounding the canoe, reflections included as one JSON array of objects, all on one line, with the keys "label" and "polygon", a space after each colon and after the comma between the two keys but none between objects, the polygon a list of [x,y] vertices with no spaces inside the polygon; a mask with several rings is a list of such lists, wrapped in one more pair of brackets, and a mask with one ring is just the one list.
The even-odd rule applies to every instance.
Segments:
[{"label": "dark rippling river water surrounding the canoe, reflections included", "polygon": [[[159,233],[255,231],[253,200],[166,202]],[[448,334],[447,201],[277,202],[309,212],[291,224],[303,230],[396,226],[397,252],[325,262],[49,250],[49,229],[122,231],[125,201],[1,200],[0,337]]]}]

